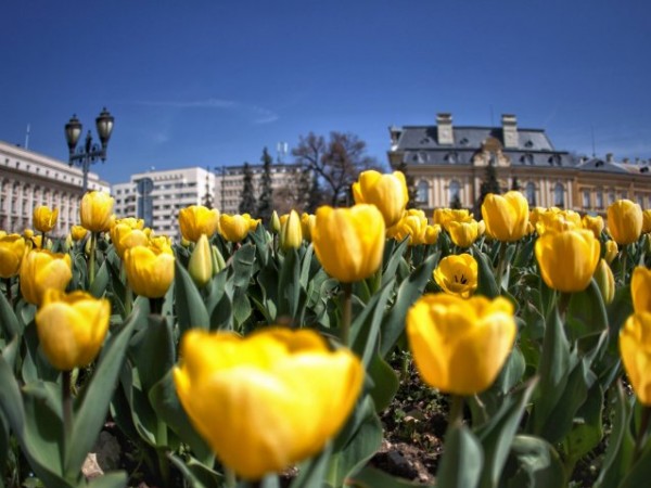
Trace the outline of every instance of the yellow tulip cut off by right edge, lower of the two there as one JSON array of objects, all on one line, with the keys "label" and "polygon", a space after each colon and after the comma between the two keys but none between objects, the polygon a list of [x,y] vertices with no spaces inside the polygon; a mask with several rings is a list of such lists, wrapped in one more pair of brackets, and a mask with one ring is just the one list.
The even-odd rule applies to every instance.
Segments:
[{"label": "yellow tulip cut off by right edge, lower of the two there", "polygon": [[651,406],[651,312],[631,314],[620,331],[620,355],[640,403]]}]

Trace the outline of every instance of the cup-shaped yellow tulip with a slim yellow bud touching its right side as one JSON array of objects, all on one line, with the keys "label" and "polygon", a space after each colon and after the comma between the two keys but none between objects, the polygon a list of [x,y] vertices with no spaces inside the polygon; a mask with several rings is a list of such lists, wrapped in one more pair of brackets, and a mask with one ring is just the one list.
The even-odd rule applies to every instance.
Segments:
[{"label": "cup-shaped yellow tulip with a slim yellow bud touching its right side", "polygon": [[536,259],[542,280],[553,290],[582,292],[590,280],[601,252],[591,231],[547,232],[536,241]]}]

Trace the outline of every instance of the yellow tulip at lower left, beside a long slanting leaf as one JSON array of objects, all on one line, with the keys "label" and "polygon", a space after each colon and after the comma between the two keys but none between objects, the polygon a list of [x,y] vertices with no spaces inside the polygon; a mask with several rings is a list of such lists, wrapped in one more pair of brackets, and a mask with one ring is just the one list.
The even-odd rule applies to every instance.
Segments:
[{"label": "yellow tulip at lower left, beside a long slanting leaf", "polygon": [[43,352],[52,365],[72,371],[97,357],[111,319],[111,303],[86,292],[68,295],[49,288],[36,313],[36,328]]}]

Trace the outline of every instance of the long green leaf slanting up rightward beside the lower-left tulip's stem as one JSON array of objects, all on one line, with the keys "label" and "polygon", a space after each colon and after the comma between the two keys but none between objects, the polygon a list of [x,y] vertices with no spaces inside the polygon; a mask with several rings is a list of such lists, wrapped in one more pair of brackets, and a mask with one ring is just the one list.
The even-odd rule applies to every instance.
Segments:
[{"label": "long green leaf slanting up rightward beside the lower-left tulip's stem", "polygon": [[79,473],[84,460],[98,438],[117,384],[127,344],[141,316],[136,312],[106,342],[90,382],[76,402],[73,419],[73,441],[66,446],[65,473]]}]

